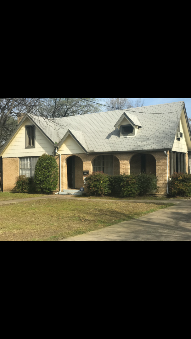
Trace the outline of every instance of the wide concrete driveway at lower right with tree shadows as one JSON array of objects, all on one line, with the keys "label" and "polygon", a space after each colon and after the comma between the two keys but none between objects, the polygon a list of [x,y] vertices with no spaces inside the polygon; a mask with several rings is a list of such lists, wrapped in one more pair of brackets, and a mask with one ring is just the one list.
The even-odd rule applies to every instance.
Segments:
[{"label": "wide concrete driveway at lower right with tree shadows", "polygon": [[191,241],[191,200],[62,241]]}]

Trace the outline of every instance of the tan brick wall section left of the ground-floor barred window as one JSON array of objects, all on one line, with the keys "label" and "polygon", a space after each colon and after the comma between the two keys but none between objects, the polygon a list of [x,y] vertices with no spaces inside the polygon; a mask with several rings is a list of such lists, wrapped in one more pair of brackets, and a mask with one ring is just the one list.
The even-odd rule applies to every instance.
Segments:
[{"label": "tan brick wall section left of the ground-floor barred window", "polygon": [[19,175],[19,158],[3,158],[3,192],[11,191]]}]

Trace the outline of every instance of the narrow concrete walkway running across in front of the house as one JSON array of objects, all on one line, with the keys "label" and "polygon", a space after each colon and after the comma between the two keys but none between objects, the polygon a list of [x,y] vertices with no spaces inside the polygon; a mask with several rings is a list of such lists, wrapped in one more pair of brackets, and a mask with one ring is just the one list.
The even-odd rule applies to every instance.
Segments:
[{"label": "narrow concrete walkway running across in front of the house", "polygon": [[40,200],[40,199],[71,199],[71,200],[88,200],[88,201],[122,201],[122,202],[125,202],[125,201],[136,201],[136,202],[151,202],[151,203],[157,203],[157,202],[162,202],[162,203],[166,203],[166,204],[169,204],[170,203],[173,203],[173,204],[177,204],[181,201],[183,201],[182,199],[172,199],[172,200],[128,200],[128,199],[125,199],[125,200],[117,200],[117,199],[88,199],[88,198],[74,198],[72,197],[71,195],[46,195],[46,196],[43,196],[43,197],[36,197],[36,198],[23,198],[23,199],[14,199],[14,200],[4,200],[4,201],[0,201],[0,205],[5,205],[5,204],[14,204],[14,203],[17,203],[17,202],[23,202],[23,201],[32,201],[32,200]]}]

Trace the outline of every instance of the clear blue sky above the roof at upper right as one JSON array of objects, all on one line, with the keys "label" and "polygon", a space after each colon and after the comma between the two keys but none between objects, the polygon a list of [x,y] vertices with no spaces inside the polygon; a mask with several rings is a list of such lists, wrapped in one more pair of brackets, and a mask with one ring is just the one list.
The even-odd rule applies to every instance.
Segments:
[{"label": "clear blue sky above the roof at upper right", "polygon": [[[107,98],[99,98],[100,103],[105,104]],[[129,98],[131,100],[136,100],[137,98]],[[186,106],[186,112],[189,118],[191,118],[191,98],[141,98],[144,99],[144,106],[149,105],[158,105],[158,104],[166,104],[169,102],[176,102],[176,101],[184,101]],[[104,106],[103,111],[104,111]]]}]

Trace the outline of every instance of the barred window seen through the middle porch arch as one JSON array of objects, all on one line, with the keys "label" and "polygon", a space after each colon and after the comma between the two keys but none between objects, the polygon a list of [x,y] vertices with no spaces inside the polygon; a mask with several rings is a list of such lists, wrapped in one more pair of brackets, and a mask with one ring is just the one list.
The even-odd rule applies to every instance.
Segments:
[{"label": "barred window seen through the middle porch arch", "polygon": [[109,175],[114,173],[114,157],[112,155],[99,155],[93,160],[93,172],[103,171]]}]

